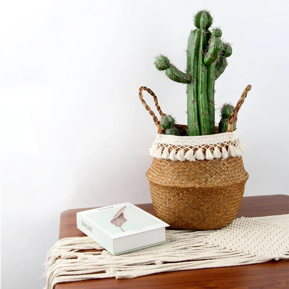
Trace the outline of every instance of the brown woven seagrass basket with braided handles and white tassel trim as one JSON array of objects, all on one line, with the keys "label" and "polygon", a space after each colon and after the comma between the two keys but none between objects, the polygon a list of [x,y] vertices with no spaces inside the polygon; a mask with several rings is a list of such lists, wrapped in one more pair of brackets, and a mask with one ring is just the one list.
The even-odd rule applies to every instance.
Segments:
[{"label": "brown woven seagrass basket with braided handles and white tassel trim", "polygon": [[[142,90],[149,92],[161,116],[165,114],[147,87],[139,97],[158,129],[150,149],[154,156],[147,178],[154,211],[158,218],[175,229],[218,229],[229,225],[237,215],[249,177],[241,153],[244,145],[237,138],[238,111],[248,85],[228,120],[226,133],[211,136],[167,136],[154,112],[145,103]],[[177,125],[185,135],[186,126]]]}]

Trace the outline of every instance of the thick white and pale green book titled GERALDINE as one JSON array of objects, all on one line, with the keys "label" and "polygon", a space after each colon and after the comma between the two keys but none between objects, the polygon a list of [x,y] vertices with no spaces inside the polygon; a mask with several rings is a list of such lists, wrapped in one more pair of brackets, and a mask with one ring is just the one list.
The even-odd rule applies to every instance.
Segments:
[{"label": "thick white and pale green book titled GERALDINE", "polygon": [[131,203],[78,212],[77,228],[113,255],[168,242],[169,225]]}]

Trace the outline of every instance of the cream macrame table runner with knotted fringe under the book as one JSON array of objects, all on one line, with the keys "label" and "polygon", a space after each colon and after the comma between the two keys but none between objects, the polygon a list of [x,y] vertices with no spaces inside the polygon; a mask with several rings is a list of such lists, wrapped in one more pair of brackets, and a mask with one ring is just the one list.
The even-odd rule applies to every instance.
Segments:
[{"label": "cream macrame table runner with knotted fringe under the book", "polygon": [[289,214],[242,217],[225,228],[209,231],[167,229],[166,238],[170,242],[118,256],[105,250],[78,253],[103,249],[89,237],[61,239],[47,254],[46,288],[70,281],[289,259]]}]

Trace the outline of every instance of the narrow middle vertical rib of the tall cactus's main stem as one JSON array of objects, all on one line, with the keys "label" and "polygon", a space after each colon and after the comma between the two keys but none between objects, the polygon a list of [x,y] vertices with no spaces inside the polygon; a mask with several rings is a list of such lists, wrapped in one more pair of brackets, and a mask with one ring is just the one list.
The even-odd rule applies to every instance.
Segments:
[{"label": "narrow middle vertical rib of the tall cactus's main stem", "polygon": [[205,30],[200,32],[199,67],[198,67],[198,102],[201,135],[209,134],[208,101],[207,101],[207,73],[208,66],[204,63],[204,51],[207,48]]}]

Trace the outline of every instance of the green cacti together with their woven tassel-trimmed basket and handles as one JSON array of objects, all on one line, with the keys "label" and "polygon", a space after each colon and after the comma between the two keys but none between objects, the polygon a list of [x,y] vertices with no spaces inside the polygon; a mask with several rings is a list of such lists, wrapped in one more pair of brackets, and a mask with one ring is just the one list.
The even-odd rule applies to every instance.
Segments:
[{"label": "green cacti together with their woven tassel-trimmed basket and handles", "polygon": [[[187,85],[188,124],[176,124],[173,116],[164,114],[152,90],[145,86],[139,90],[158,129],[147,178],[158,218],[176,229],[217,229],[235,218],[249,176],[243,166],[245,147],[237,136],[236,121],[251,85],[235,107],[229,103],[221,107],[216,127],[215,81],[227,67],[232,48],[221,39],[220,28],[210,30],[208,10],[197,12],[194,24],[184,72],[164,55],[154,62],[169,79]],[[143,90],[153,96],[160,120],[144,101]]]}]

